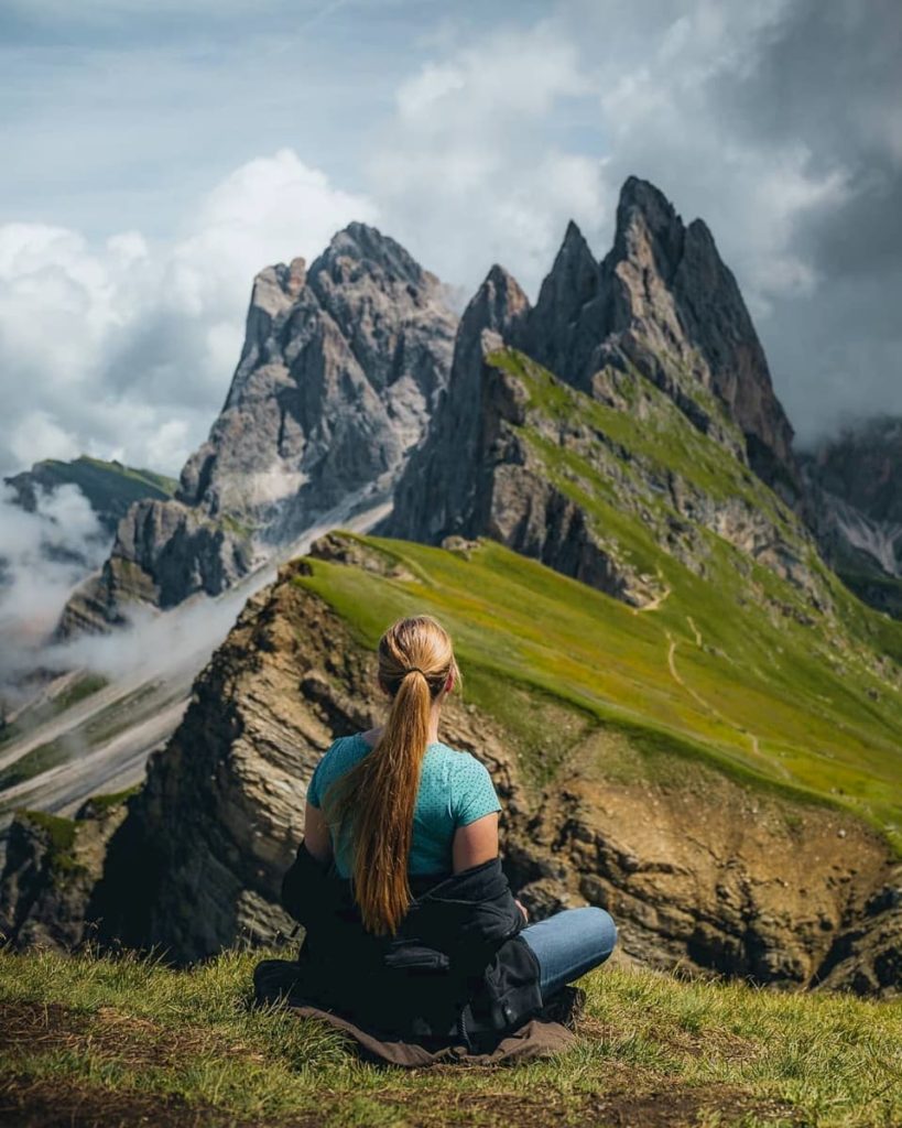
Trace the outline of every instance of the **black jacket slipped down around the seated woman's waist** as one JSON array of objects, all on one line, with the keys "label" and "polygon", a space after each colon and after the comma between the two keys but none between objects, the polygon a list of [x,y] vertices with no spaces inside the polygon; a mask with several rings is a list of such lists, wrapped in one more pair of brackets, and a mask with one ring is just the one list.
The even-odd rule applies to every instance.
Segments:
[{"label": "black jacket slipped down around the seated woman's waist", "polygon": [[483,1048],[542,1005],[539,963],[498,858],[448,878],[413,876],[393,936],[366,932],[351,882],[303,843],[282,904],[303,925],[294,994],[389,1037]]}]

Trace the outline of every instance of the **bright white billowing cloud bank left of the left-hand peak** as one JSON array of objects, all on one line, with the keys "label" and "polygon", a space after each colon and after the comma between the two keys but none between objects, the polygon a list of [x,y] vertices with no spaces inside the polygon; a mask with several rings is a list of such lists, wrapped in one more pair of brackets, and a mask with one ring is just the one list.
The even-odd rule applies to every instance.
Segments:
[{"label": "bright white billowing cloud bank left of the left-hand peak", "polygon": [[177,474],[226,397],[254,274],[374,218],[282,149],[226,177],[168,245],[0,227],[0,468],[87,451]]}]

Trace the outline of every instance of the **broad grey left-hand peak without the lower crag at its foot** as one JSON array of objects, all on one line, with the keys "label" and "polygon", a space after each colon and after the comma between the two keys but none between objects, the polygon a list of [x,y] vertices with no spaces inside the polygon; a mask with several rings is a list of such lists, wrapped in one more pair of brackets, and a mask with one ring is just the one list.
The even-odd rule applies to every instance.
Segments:
[{"label": "broad grey left-hand peak without the lower crag at its foot", "polygon": [[362,223],[309,271],[264,271],[226,406],[178,499],[284,541],[396,469],[448,379],[457,319],[442,294]]}]

